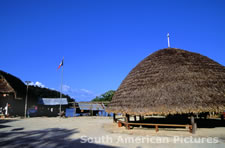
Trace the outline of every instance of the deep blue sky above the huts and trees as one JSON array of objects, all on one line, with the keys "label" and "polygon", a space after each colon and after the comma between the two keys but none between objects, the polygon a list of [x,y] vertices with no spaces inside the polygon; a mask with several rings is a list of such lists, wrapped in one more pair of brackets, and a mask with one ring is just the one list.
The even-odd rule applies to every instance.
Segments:
[{"label": "deep blue sky above the huts and trees", "polygon": [[224,0],[1,0],[0,70],[88,101],[171,47],[225,65]]}]

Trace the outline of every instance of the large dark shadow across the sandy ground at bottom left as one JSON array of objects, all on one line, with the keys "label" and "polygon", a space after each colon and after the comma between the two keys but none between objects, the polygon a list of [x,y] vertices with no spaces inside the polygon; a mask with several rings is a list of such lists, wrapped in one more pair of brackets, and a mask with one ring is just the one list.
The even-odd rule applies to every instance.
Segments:
[{"label": "large dark shadow across the sandy ground at bottom left", "polygon": [[76,129],[68,130],[61,128],[48,128],[35,131],[19,131],[0,133],[0,147],[35,147],[35,148],[113,148],[112,146],[81,143],[82,139],[70,139],[73,134],[78,133]]}]

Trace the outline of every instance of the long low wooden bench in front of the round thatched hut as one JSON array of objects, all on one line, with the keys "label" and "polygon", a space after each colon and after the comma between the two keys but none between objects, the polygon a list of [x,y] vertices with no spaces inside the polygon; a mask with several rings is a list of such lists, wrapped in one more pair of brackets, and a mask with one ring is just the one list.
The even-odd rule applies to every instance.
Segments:
[{"label": "long low wooden bench in front of the round thatched hut", "polygon": [[130,122],[124,122],[118,120],[118,127],[122,127],[123,125],[126,127],[126,129],[130,129],[130,125],[139,125],[139,126],[155,126],[155,131],[159,131],[159,126],[166,126],[166,127],[185,127],[189,128],[190,133],[192,132],[192,125],[189,124],[156,124],[156,123],[130,123]]}]

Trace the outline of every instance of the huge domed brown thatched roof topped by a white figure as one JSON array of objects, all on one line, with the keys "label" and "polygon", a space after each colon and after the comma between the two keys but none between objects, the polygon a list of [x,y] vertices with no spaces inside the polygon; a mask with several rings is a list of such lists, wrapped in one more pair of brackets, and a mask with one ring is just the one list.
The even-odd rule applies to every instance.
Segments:
[{"label": "huge domed brown thatched roof topped by a white figure", "polygon": [[166,48],[128,74],[107,111],[149,115],[224,109],[225,67],[197,53]]}]

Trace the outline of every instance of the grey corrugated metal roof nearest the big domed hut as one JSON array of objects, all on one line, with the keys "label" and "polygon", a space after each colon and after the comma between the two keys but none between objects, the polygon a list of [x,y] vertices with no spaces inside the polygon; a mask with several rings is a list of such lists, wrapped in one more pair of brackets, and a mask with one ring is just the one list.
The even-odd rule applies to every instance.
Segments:
[{"label": "grey corrugated metal roof nearest the big domed hut", "polygon": [[80,110],[105,110],[104,104],[78,103]]}]

